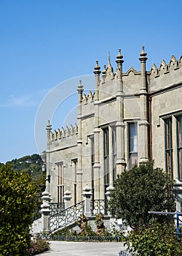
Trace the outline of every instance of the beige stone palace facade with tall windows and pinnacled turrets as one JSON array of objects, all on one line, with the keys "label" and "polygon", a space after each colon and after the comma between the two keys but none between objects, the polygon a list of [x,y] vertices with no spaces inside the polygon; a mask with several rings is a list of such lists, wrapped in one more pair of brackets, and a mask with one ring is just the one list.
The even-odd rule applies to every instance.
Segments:
[{"label": "beige stone palace facade with tall windows and pinnacled turrets", "polygon": [[88,184],[92,199],[105,199],[116,175],[137,162],[154,159],[174,179],[182,180],[182,56],[172,56],[146,71],[146,52],[140,53],[141,71],[94,67],[95,92],[77,87],[77,124],[52,131],[47,124],[47,191],[53,202],[71,192],[71,205],[83,200]]}]

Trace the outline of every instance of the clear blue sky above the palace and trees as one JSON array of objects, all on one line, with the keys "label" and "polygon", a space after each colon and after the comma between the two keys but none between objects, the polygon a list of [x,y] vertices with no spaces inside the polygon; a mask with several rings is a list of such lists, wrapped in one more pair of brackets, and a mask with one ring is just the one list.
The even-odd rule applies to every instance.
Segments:
[{"label": "clear blue sky above the palace and trees", "polygon": [[[87,83],[95,60],[103,67],[108,52],[115,69],[122,49],[124,72],[140,70],[142,45],[147,70],[172,55],[179,59],[181,10],[181,0],[0,0],[0,162],[46,149],[48,119],[53,129],[69,126],[66,113],[76,108],[79,77]],[[84,86],[92,89],[92,81]],[[50,111],[51,99],[41,110],[59,94],[59,107],[57,99]]]}]

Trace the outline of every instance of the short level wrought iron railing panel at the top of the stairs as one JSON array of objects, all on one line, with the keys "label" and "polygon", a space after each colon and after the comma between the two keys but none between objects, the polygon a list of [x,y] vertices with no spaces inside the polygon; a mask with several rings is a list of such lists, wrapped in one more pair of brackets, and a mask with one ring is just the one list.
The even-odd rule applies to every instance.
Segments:
[{"label": "short level wrought iron railing panel at the top of the stairs", "polygon": [[108,214],[107,200],[91,200],[90,201],[91,214]]}]

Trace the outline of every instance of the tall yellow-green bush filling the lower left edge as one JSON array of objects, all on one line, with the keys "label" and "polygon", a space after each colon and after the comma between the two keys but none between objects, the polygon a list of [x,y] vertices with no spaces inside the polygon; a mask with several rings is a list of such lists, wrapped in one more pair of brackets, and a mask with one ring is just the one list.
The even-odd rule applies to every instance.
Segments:
[{"label": "tall yellow-green bush filling the lower left edge", "polygon": [[0,180],[0,252],[23,255],[31,241],[36,186],[25,171],[14,171],[9,164],[1,165]]}]

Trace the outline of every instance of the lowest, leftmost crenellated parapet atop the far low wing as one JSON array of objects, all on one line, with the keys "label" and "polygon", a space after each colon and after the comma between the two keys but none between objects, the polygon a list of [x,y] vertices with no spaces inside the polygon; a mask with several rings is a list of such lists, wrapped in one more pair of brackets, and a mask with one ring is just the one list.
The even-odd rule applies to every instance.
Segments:
[{"label": "lowest, leftmost crenellated parapet atop the far low wing", "polygon": [[50,132],[50,141],[68,138],[70,136],[76,135],[77,133],[78,133],[77,124],[75,124],[74,127],[71,124],[70,128],[68,128],[67,126],[66,129],[62,127],[62,129],[58,129],[57,131],[55,130],[54,132]]}]

